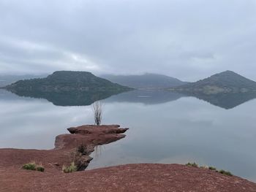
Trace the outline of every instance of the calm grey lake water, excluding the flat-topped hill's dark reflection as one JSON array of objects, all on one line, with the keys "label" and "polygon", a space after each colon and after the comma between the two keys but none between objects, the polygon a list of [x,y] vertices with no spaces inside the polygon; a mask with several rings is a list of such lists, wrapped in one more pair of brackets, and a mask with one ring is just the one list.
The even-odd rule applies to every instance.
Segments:
[{"label": "calm grey lake water, excluding the flat-topped hill's dark reflection", "polygon": [[[104,100],[102,123],[127,137],[97,147],[88,169],[132,163],[216,166],[256,181],[254,96],[132,91]],[[91,106],[61,107],[0,90],[0,147],[51,149],[70,126],[91,124]],[[1,157],[0,157],[1,158]]]}]

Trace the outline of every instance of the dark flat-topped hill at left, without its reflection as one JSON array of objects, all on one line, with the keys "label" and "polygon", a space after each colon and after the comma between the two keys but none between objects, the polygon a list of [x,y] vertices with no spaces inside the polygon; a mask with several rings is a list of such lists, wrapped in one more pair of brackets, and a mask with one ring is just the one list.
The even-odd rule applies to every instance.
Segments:
[{"label": "dark flat-topped hill at left, without its reflection", "polygon": [[53,72],[48,77],[19,80],[5,87],[12,91],[128,91],[131,88],[96,77],[90,72]]}]

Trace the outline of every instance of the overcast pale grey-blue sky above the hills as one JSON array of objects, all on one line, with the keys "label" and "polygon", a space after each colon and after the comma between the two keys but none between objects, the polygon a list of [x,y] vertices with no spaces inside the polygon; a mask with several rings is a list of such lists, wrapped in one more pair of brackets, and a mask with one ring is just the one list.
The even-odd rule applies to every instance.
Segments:
[{"label": "overcast pale grey-blue sky above the hills", "polygon": [[255,0],[0,0],[0,74],[256,80],[255,51]]}]

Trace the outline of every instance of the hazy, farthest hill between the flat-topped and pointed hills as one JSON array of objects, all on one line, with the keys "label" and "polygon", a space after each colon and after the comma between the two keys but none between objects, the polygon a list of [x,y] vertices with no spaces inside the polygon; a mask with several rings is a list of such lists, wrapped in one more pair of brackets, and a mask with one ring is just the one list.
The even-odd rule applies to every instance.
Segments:
[{"label": "hazy, farthest hill between the flat-topped and pointed hills", "polygon": [[105,74],[101,77],[116,82],[130,88],[170,88],[187,84],[173,77],[162,74],[142,74],[142,75],[112,75]]}]

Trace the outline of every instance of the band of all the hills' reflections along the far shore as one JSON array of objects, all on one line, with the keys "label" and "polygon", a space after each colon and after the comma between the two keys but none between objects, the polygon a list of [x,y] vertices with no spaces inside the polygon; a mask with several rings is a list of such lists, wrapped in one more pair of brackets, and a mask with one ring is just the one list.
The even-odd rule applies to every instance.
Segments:
[{"label": "band of all the hills' reflections along the far shore", "polygon": [[[15,91],[18,96],[29,99],[47,99],[56,106],[86,106],[94,101],[105,99],[105,102],[129,102],[142,104],[163,104],[176,101],[182,97],[192,96],[207,101],[217,107],[230,110],[246,101],[256,98],[256,92],[240,93],[177,93],[162,90],[134,90],[134,91],[62,91],[62,92],[39,92],[39,91]],[[0,90],[0,99],[17,99],[8,91]]]}]

